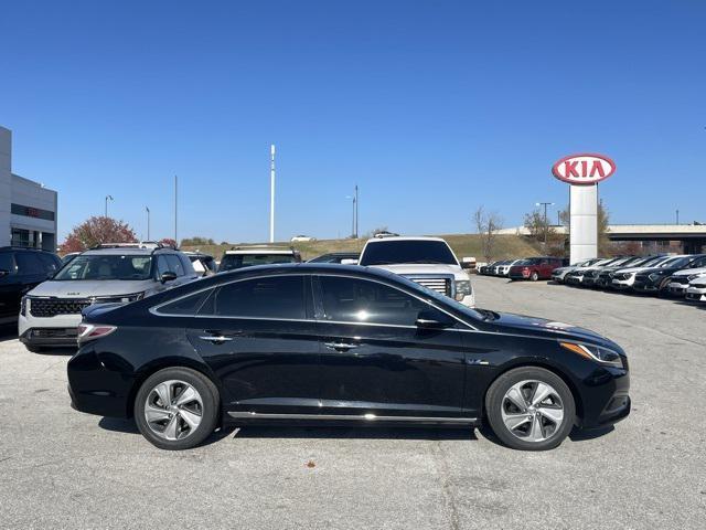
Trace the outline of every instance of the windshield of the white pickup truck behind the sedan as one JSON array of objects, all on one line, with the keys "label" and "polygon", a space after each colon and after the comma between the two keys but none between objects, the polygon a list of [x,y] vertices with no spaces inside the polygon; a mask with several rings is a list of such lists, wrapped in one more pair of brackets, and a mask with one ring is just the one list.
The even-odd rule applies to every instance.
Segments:
[{"label": "windshield of the white pickup truck behind the sedan", "polygon": [[361,265],[395,265],[399,263],[438,263],[458,265],[445,241],[386,241],[368,243]]}]

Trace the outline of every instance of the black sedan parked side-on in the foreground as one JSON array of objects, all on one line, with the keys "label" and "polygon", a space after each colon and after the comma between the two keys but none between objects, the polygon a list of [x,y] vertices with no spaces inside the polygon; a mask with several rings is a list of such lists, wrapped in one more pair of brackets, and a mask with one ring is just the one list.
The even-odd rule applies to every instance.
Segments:
[{"label": "black sedan parked side-on in the foreground", "polygon": [[275,265],[87,309],[73,406],[164,449],[225,424],[478,426],[517,449],[630,412],[623,350],[561,322],[470,309],[404,277]]}]

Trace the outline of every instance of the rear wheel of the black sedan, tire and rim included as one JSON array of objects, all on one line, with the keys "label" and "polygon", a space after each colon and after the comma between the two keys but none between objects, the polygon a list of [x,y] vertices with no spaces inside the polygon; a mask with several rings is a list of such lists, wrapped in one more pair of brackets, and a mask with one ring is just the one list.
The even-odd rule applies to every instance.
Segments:
[{"label": "rear wheel of the black sedan, tire and rim included", "polygon": [[174,367],[153,373],[142,383],[133,411],[140,433],[152,445],[168,451],[190,449],[216,428],[221,402],[218,390],[207,377]]}]

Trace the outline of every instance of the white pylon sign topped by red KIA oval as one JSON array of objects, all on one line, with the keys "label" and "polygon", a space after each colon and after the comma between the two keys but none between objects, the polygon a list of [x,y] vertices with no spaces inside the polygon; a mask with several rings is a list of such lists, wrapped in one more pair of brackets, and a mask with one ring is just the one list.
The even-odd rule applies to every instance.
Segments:
[{"label": "white pylon sign topped by red KIA oval", "polygon": [[552,174],[569,187],[570,262],[598,257],[598,182],[616,172],[603,155],[579,153],[559,159]]}]

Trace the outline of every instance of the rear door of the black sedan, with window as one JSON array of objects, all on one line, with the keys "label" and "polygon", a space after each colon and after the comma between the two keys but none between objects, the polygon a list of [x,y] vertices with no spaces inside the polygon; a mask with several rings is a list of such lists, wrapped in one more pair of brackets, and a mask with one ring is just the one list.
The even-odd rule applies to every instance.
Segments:
[{"label": "rear door of the black sedan, with window", "polygon": [[218,287],[186,331],[222,382],[227,411],[319,413],[319,337],[304,276]]}]

